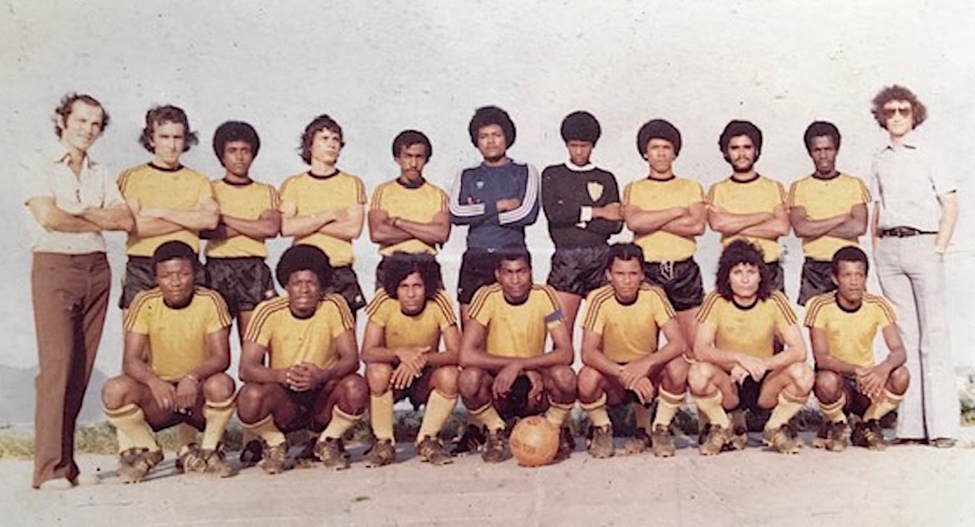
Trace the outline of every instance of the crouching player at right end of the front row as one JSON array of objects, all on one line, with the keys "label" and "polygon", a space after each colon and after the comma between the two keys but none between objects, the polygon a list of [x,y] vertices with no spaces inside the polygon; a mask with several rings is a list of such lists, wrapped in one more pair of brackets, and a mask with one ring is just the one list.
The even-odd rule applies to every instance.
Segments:
[{"label": "crouching player at right end of the front row", "polygon": [[[834,451],[846,448],[850,412],[863,418],[853,428],[853,443],[883,450],[879,420],[897,407],[908,389],[907,353],[893,306],[867,293],[867,255],[847,246],[837,251],[832,263],[836,293],[813,297],[805,314],[816,359],[816,398],[825,418],[812,444]],[[889,350],[880,363],[874,360],[878,328]]]}]

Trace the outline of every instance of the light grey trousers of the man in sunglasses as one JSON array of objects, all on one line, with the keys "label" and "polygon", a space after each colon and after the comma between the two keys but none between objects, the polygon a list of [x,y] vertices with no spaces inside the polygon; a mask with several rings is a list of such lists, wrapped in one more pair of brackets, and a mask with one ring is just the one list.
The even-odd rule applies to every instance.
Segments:
[{"label": "light grey trousers of the man in sunglasses", "polygon": [[897,309],[911,385],[898,413],[897,436],[958,436],[959,407],[945,299],[945,266],[935,236],[880,238],[877,273]]}]

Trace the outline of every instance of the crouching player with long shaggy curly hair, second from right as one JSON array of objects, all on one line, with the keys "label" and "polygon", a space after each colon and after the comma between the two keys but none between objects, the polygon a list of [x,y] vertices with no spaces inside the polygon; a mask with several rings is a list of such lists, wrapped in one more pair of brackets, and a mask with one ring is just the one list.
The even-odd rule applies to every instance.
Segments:
[{"label": "crouching player with long shaggy curly hair, second from right", "polygon": [[[801,442],[789,420],[802,409],[815,379],[805,363],[796,313],[786,296],[772,289],[758,247],[735,240],[724,248],[716,290],[705,297],[698,322],[697,362],[687,382],[698,414],[710,422],[701,454],[745,447],[743,414],[732,428],[725,410],[769,409],[762,441],[778,452],[799,452]],[[785,345],[782,350],[776,350],[776,339]]]}]

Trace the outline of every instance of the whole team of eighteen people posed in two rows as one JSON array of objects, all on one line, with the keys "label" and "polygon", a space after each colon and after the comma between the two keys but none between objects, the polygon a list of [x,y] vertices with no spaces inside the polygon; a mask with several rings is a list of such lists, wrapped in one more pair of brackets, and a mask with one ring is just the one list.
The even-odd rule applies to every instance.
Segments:
[{"label": "whole team of eighteen people posed in two rows", "polygon": [[[539,173],[508,157],[515,122],[488,105],[468,128],[480,162],[450,188],[424,179],[434,145],[406,130],[389,151],[399,176],[367,192],[338,168],[342,127],[327,114],[296,145],[307,170],[275,187],[252,179],[261,142],[242,121],[215,130],[221,177],[184,166],[200,138],[175,105],[146,112],[147,161],[109,172],[88,153],[110,124],[106,105],[68,94],[54,112],[57,142],[21,175],[39,360],[32,486],[98,482],[74,458],[88,388],[100,389],[127,483],[163,461],[155,432],[170,427],[183,472],[395,463],[394,405],[405,399],[423,408],[416,457],[435,466],[475,452],[504,462],[512,426],[529,416],[551,426],[565,459],[576,405],[589,456],[614,455],[610,410],[631,405],[626,452],[671,457],[685,400],[705,456],[746,448],[746,415],[763,424],[766,448],[799,452],[792,422],[811,400],[822,412],[813,447],[883,450],[881,421],[897,409],[893,442],[950,448],[959,408],[944,254],[956,177],[914,133],[927,115],[911,90],[884,87],[864,111],[887,136],[864,179],[839,172],[841,134],[815,121],[796,138],[812,171],[787,188],[756,168],[761,129],[732,120],[716,134],[730,175],[705,189],[675,174],[681,131],[654,118],[635,135],[645,177],[620,186],[591,162],[602,128],[583,110],[562,121],[565,163]],[[554,246],[547,276],[533,273],[526,244],[540,214]],[[381,257],[374,276],[353,268],[366,223]],[[453,227],[466,245],[458,275],[445,276],[438,251]],[[695,261],[709,228],[722,246],[710,292]],[[624,229],[633,241],[610,243]],[[118,312],[103,231],[127,233],[124,349],[118,375],[89,386],[105,318]],[[790,232],[800,276],[783,270]],[[293,243],[269,262],[277,236]],[[872,272],[882,291],[867,290]],[[363,280],[374,280],[371,298]],[[458,403],[466,424],[446,445]],[[235,415],[239,460],[224,447]],[[363,420],[374,441],[353,460],[343,437]],[[314,437],[292,445],[299,430]]]}]

